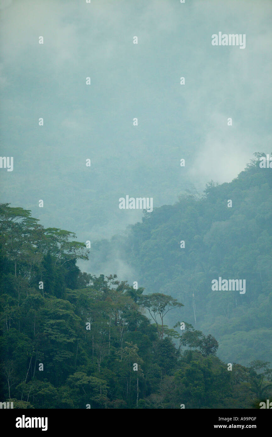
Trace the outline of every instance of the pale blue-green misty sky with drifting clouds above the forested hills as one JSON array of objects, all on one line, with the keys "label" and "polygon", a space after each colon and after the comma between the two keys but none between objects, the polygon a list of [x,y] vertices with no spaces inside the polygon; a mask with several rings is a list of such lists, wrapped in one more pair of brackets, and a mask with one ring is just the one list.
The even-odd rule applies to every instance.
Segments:
[{"label": "pale blue-green misty sky with drifting clouds above the forested hills", "polygon": [[[42,225],[108,238],[142,216],[120,197],[171,204],[271,152],[271,1],[0,0],[0,13],[1,156],[14,157],[1,201]],[[212,46],[219,31],[246,48]]]}]

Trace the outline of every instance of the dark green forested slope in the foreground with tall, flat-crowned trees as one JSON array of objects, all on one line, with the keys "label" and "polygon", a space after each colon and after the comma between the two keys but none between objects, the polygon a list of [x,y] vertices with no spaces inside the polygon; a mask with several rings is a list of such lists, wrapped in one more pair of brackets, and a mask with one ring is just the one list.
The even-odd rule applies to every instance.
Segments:
[{"label": "dark green forested slope in the foreground with tall, flat-crowned trees", "polygon": [[[183,235],[189,242],[197,210],[194,199],[186,202],[192,230]],[[204,214],[202,221],[208,222]],[[259,408],[272,394],[268,363],[233,364],[230,371],[216,357],[213,336],[190,323],[173,329],[182,327],[188,310],[168,295],[169,287],[146,295],[114,274],[80,272],[76,261],[87,258],[84,243],[72,232],[43,228],[23,208],[0,205],[0,231],[2,401],[37,409]],[[265,284],[265,268],[260,273]],[[165,325],[169,313],[171,326]]]}]

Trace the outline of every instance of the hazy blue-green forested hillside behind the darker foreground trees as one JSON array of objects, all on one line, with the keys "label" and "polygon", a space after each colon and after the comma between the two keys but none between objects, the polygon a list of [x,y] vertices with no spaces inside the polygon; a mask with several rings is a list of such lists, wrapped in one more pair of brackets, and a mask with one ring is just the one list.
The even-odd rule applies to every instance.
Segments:
[{"label": "hazy blue-green forested hillside behind the darker foreground trees", "polygon": [[[216,337],[221,359],[244,365],[272,362],[272,169],[260,156],[231,183],[210,182],[203,195],[146,213],[129,236],[96,242],[91,256],[97,271],[118,254],[147,293],[185,305],[185,320]],[[245,293],[212,291],[219,277],[244,279]]]}]

